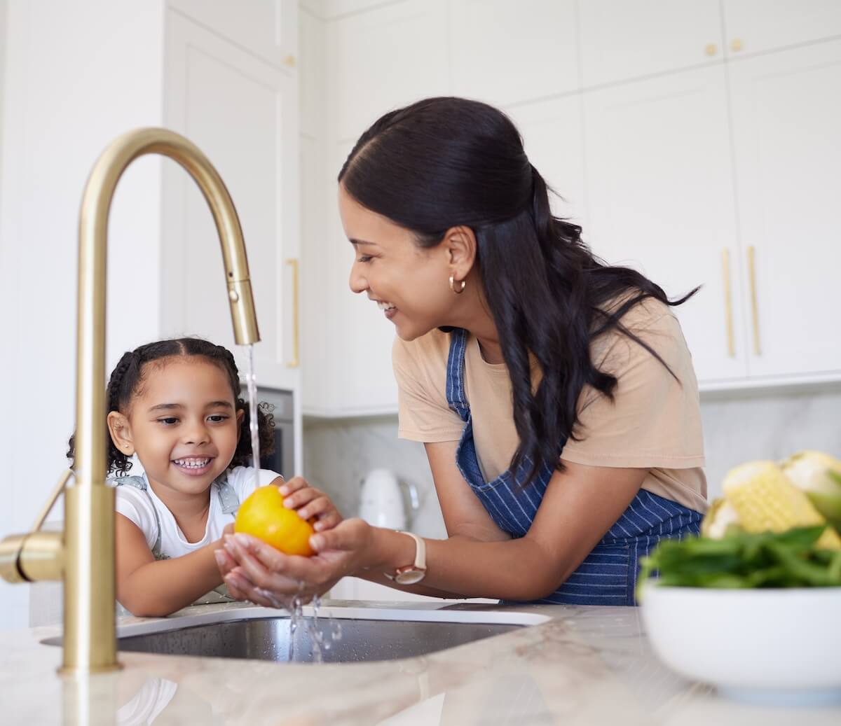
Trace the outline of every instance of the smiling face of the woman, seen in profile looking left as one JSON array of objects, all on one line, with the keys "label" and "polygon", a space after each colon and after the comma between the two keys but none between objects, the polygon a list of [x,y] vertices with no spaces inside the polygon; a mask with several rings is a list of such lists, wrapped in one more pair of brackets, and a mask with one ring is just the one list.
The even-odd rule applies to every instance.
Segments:
[{"label": "smiling face of the woman, seen in profile looking left", "polygon": [[[339,213],[354,251],[351,289],[365,292],[404,340],[452,324],[457,296],[449,285],[453,255],[447,242],[430,249],[415,236],[370,209],[362,207],[339,185]],[[466,273],[465,273],[466,274]]]}]

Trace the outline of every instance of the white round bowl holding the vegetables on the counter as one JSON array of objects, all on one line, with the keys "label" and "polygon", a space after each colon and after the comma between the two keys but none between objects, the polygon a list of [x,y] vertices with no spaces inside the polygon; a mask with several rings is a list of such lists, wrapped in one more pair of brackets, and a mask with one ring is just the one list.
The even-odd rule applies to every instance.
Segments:
[{"label": "white round bowl holding the vegetables on the counter", "polygon": [[841,702],[841,587],[645,586],[643,622],[664,663],[748,702]]}]

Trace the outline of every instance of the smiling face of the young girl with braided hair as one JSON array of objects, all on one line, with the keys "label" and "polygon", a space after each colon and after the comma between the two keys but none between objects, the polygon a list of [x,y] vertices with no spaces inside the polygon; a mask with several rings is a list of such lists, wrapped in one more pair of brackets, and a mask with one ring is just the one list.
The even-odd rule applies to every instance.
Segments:
[{"label": "smiling face of the young girl with braided hair", "polygon": [[204,492],[230,465],[244,415],[228,376],[198,356],[154,360],[142,372],[128,415],[108,414],[114,445],[136,453],[150,481]]}]

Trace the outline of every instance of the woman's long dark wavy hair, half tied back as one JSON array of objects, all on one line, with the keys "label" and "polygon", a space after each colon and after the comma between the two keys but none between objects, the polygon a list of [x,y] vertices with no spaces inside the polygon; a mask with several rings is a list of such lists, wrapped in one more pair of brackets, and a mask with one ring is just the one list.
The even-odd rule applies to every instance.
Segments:
[{"label": "woman's long dark wavy hair, half tied back", "polygon": [[[410,229],[421,247],[440,244],[454,226],[473,229],[511,379],[520,438],[511,468],[522,472],[521,485],[541,462],[563,471],[559,457],[563,442],[576,439],[584,386],[613,398],[616,376],[590,360],[594,339],[619,329],[669,369],[621,318],[648,297],[680,305],[696,290],[670,301],[639,272],[595,257],[578,225],[553,216],[546,182],[498,109],[439,97],[386,113],[354,145],[339,182],[363,207]],[[533,395],[530,352],[542,368]]]}]

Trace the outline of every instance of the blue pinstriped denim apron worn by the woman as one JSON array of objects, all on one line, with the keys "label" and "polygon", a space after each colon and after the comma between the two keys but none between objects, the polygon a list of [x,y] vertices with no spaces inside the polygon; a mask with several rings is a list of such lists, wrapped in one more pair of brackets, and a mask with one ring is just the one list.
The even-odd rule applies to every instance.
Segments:
[{"label": "blue pinstriped denim apron worn by the woman", "polygon": [[[523,537],[532,526],[554,467],[543,464],[525,488],[526,463],[517,472],[504,471],[484,481],[473,441],[473,419],[464,395],[464,353],[468,334],[454,329],[447,360],[447,402],[466,424],[456,450],[456,464],[473,493],[496,525],[512,537]],[[566,442],[564,442],[566,443]],[[568,605],[636,605],[639,560],[660,539],[698,534],[701,514],[664,497],[640,489],[578,569],[551,595],[533,602]]]}]

